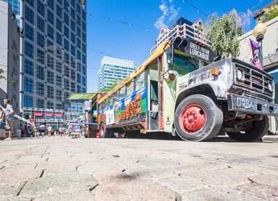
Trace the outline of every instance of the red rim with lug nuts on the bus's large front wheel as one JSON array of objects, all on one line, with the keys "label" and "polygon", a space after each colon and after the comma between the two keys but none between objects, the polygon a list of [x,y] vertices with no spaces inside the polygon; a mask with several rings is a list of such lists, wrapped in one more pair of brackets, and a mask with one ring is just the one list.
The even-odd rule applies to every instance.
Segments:
[{"label": "red rim with lug nuts on the bus's large front wheel", "polygon": [[190,104],[181,112],[180,120],[186,132],[197,132],[206,123],[206,113],[200,105]]}]

